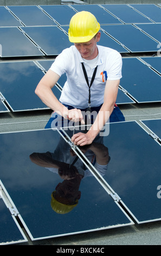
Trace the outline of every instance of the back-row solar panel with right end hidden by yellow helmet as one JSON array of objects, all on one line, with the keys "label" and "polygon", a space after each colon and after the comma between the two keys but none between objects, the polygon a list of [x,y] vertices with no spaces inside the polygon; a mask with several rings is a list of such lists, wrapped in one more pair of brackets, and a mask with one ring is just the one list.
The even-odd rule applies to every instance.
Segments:
[{"label": "back-row solar panel with right end hidden by yellow helmet", "polygon": [[75,11],[68,5],[40,5],[60,25],[69,25],[70,19]]}]

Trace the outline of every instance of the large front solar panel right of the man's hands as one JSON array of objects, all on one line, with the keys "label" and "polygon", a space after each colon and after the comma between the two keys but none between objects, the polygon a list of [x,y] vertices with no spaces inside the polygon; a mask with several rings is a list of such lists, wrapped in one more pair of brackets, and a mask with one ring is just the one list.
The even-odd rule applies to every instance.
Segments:
[{"label": "large front solar panel right of the man's hands", "polygon": [[[102,149],[111,157],[103,178],[120,197],[120,205],[137,223],[161,220],[160,145],[136,121],[111,123],[110,133],[102,141]],[[93,168],[99,171],[96,164]]]}]

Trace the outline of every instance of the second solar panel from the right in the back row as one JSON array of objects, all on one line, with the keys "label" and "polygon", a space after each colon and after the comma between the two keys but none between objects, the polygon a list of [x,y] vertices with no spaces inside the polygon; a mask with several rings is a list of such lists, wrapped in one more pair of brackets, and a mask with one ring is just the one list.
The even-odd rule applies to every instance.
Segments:
[{"label": "second solar panel from the right in the back row", "polygon": [[151,21],[126,4],[101,4],[125,23],[150,23]]}]

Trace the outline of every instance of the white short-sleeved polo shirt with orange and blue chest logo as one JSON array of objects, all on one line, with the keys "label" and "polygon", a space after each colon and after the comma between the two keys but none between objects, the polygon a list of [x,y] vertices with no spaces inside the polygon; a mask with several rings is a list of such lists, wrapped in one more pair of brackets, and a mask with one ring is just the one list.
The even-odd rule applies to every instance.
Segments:
[{"label": "white short-sleeved polo shirt with orange and blue chest logo", "polygon": [[95,79],[91,87],[91,107],[98,107],[104,102],[106,80],[118,80],[121,76],[122,58],[119,52],[98,45],[98,59],[91,69],[88,62],[81,57],[76,47],[70,46],[56,57],[50,69],[59,76],[66,73],[67,81],[63,86],[60,102],[75,108],[88,107],[88,86],[82,70],[85,65],[89,84],[94,68],[98,65]]}]

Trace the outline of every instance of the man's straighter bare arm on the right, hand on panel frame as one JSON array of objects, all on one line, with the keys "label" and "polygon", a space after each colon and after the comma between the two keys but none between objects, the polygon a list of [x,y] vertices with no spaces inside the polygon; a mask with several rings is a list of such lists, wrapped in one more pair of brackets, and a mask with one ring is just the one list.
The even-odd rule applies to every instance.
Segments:
[{"label": "man's straighter bare arm on the right, hand on panel frame", "polygon": [[72,137],[74,144],[83,146],[93,142],[94,138],[101,131],[102,127],[104,127],[113,112],[115,101],[117,100],[119,83],[120,80],[107,80],[104,93],[104,103],[96,116],[94,124],[86,134],[81,132],[76,133]]}]

